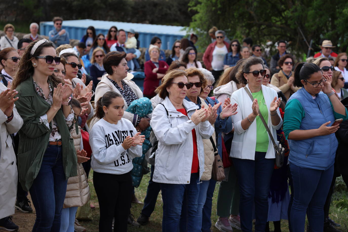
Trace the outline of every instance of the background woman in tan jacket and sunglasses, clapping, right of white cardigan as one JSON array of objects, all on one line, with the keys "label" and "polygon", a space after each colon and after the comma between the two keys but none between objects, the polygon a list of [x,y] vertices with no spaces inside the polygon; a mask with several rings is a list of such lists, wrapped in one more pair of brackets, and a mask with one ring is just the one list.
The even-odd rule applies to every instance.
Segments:
[{"label": "background woman in tan jacket and sunglasses, clapping, right of white cardigan", "polygon": [[271,78],[271,85],[278,87],[280,91],[283,92],[286,99],[300,89],[293,85],[294,74],[292,72],[292,67],[294,64],[294,59],[290,54],[285,54],[280,57],[278,61],[280,71],[275,73]]}]

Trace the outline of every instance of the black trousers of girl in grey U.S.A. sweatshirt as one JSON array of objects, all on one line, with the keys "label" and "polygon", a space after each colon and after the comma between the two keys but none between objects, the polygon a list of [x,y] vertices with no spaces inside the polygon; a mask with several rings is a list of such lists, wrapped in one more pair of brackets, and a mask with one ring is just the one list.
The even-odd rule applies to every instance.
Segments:
[{"label": "black trousers of girl in grey U.S.A. sweatshirt", "polygon": [[100,208],[99,231],[111,232],[113,217],[115,218],[114,231],[127,231],[132,199],[130,172],[116,175],[94,171],[93,185]]}]

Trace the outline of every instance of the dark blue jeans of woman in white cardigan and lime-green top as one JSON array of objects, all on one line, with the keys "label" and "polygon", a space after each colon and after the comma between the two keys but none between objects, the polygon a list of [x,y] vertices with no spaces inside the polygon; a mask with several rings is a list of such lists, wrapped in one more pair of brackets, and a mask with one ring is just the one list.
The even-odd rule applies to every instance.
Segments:
[{"label": "dark blue jeans of woman in white cardigan and lime-green top", "polygon": [[275,159],[266,159],[266,152],[255,152],[255,160],[233,158],[239,182],[239,215],[242,231],[251,232],[255,203],[255,231],[265,231],[268,217],[268,194]]}]

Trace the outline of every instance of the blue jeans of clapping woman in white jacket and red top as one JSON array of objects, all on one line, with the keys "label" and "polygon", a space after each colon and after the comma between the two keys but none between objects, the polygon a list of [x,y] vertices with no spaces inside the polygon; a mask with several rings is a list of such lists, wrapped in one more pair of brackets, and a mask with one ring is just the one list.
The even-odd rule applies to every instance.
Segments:
[{"label": "blue jeans of clapping woman in white jacket and red top", "polygon": [[181,232],[198,230],[198,182],[199,173],[192,173],[189,184],[160,183],[163,198],[163,232],[178,232],[179,226]]}]

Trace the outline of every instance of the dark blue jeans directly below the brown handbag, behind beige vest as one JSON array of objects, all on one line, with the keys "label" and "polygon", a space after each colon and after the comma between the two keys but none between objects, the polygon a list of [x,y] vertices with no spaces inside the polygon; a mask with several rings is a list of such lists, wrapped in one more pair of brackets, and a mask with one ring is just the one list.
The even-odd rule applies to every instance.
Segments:
[{"label": "dark blue jeans directly below the brown handbag, behind beige vest", "polygon": [[[207,189],[207,196],[205,199],[205,204],[202,211],[202,232],[210,232],[210,227],[212,227],[212,202],[213,202],[213,195],[215,190],[215,184],[216,181],[214,179],[210,179],[208,189]],[[199,190],[200,195],[200,190]],[[199,200],[198,200],[198,207],[199,207]]]}]

